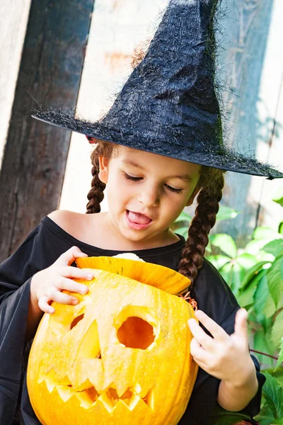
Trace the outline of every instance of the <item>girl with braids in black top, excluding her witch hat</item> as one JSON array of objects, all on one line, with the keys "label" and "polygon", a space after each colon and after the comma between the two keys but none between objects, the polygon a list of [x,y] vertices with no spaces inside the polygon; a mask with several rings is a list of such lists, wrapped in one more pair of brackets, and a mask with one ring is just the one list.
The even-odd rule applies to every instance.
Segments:
[{"label": "girl with braids in black top, excluding her witch hat", "polygon": [[[254,416],[260,409],[264,376],[249,354],[246,310],[239,310],[228,285],[212,264],[203,259],[207,233],[214,225],[221,199],[223,171],[101,141],[92,159],[89,214],[52,212],[1,266],[2,286],[6,288],[1,303],[1,329],[8,332],[6,336],[1,330],[1,338],[9,356],[1,363],[1,367],[6,365],[1,423],[11,424],[16,407],[13,397],[20,383],[16,371],[21,364],[18,351],[23,349],[25,315],[29,341],[42,312],[54,312],[51,300],[73,305],[78,302],[75,294],[63,294],[61,290],[86,293],[86,286],[71,278],[91,280],[93,276],[91,271],[71,267],[76,258],[113,256],[125,251],[134,252],[144,261],[179,270],[194,283],[190,295],[197,300],[196,315],[203,326],[195,320],[189,325],[195,336],[191,353],[200,368],[179,423],[209,424],[216,402],[224,409],[243,410]],[[98,212],[106,184],[109,211]],[[192,203],[197,192],[196,215],[185,243],[171,231],[170,225],[185,205]],[[11,308],[13,313],[7,311]],[[17,328],[13,349],[9,327]],[[40,424],[30,407],[25,382],[21,416],[23,424]]]}]

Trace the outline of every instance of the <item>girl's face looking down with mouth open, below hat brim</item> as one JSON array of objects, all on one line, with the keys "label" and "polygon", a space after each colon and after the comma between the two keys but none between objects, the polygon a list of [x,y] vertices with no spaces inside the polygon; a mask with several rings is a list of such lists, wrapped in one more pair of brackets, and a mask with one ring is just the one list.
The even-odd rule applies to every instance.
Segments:
[{"label": "girl's face looking down with mouth open, below hat brim", "polygon": [[[100,157],[99,178],[107,184],[108,229],[129,249],[175,242],[169,229],[198,191],[201,166],[120,146]],[[122,239],[121,239],[122,238]]]}]

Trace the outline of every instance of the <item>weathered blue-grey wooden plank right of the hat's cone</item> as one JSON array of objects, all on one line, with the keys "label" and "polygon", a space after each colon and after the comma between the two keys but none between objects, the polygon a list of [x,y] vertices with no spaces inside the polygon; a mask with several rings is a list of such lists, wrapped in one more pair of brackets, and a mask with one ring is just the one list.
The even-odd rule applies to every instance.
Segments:
[{"label": "weathered blue-grey wooden plank right of the hat's cone", "polygon": [[[231,88],[224,92],[224,108],[229,111],[226,118],[227,141],[240,152],[261,153],[260,158],[268,161],[270,147],[264,152],[260,152],[258,147],[262,143],[268,145],[274,115],[270,112],[262,122],[259,104],[262,102],[260,86],[273,0],[227,0],[226,5],[229,12],[224,18],[224,26],[229,38],[219,59],[222,64],[221,78]],[[282,27],[279,31],[282,39]],[[270,84],[270,81],[266,82]],[[228,228],[226,223],[220,223],[217,230],[229,232],[241,246],[246,244],[258,223],[264,178],[229,173],[226,180],[224,203],[241,211],[241,215],[231,220]]]}]

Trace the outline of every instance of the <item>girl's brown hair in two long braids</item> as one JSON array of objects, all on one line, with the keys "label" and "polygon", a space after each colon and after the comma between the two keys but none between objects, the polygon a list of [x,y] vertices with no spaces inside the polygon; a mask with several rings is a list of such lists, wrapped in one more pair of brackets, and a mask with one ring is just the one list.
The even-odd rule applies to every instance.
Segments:
[{"label": "girl's brown hair in two long braids", "polygon": [[[91,154],[93,164],[91,190],[88,192],[87,214],[100,212],[100,202],[103,200],[105,184],[98,178],[99,162],[98,157],[112,157],[118,149],[118,145],[88,137],[96,147]],[[191,280],[190,289],[197,278],[197,273],[202,267],[204,251],[208,244],[208,234],[215,224],[216,214],[219,210],[219,201],[222,197],[224,187],[224,172],[208,166],[202,166],[200,180],[197,186],[200,192],[197,196],[197,208],[195,217],[192,219],[188,230],[188,237],[183,249],[182,259],[179,263],[179,273],[187,276]]]}]

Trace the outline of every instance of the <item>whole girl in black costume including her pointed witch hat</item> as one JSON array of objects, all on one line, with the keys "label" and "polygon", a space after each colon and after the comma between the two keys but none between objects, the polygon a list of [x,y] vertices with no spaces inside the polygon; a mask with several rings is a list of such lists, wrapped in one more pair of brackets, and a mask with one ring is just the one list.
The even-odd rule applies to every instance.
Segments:
[{"label": "whole girl in black costume including her pointed witch hat", "polygon": [[[96,144],[88,214],[54,211],[42,219],[0,268],[0,423],[39,424],[26,389],[30,340],[52,300],[75,305],[91,271],[71,266],[81,256],[134,252],[191,280],[200,325],[191,320],[191,353],[200,365],[180,424],[204,424],[216,404],[243,411],[253,423],[264,376],[249,355],[246,311],[204,259],[224,186],[224,170],[270,179],[275,169],[224,146],[214,92],[215,0],[171,0],[144,60],[98,123],[62,111],[36,118],[75,130]],[[100,212],[108,186],[108,212]],[[187,241],[170,226],[197,196]],[[22,370],[23,366],[23,370]],[[17,410],[18,404],[18,410]],[[17,411],[17,412],[16,412]],[[15,414],[16,412],[16,414]]]}]

